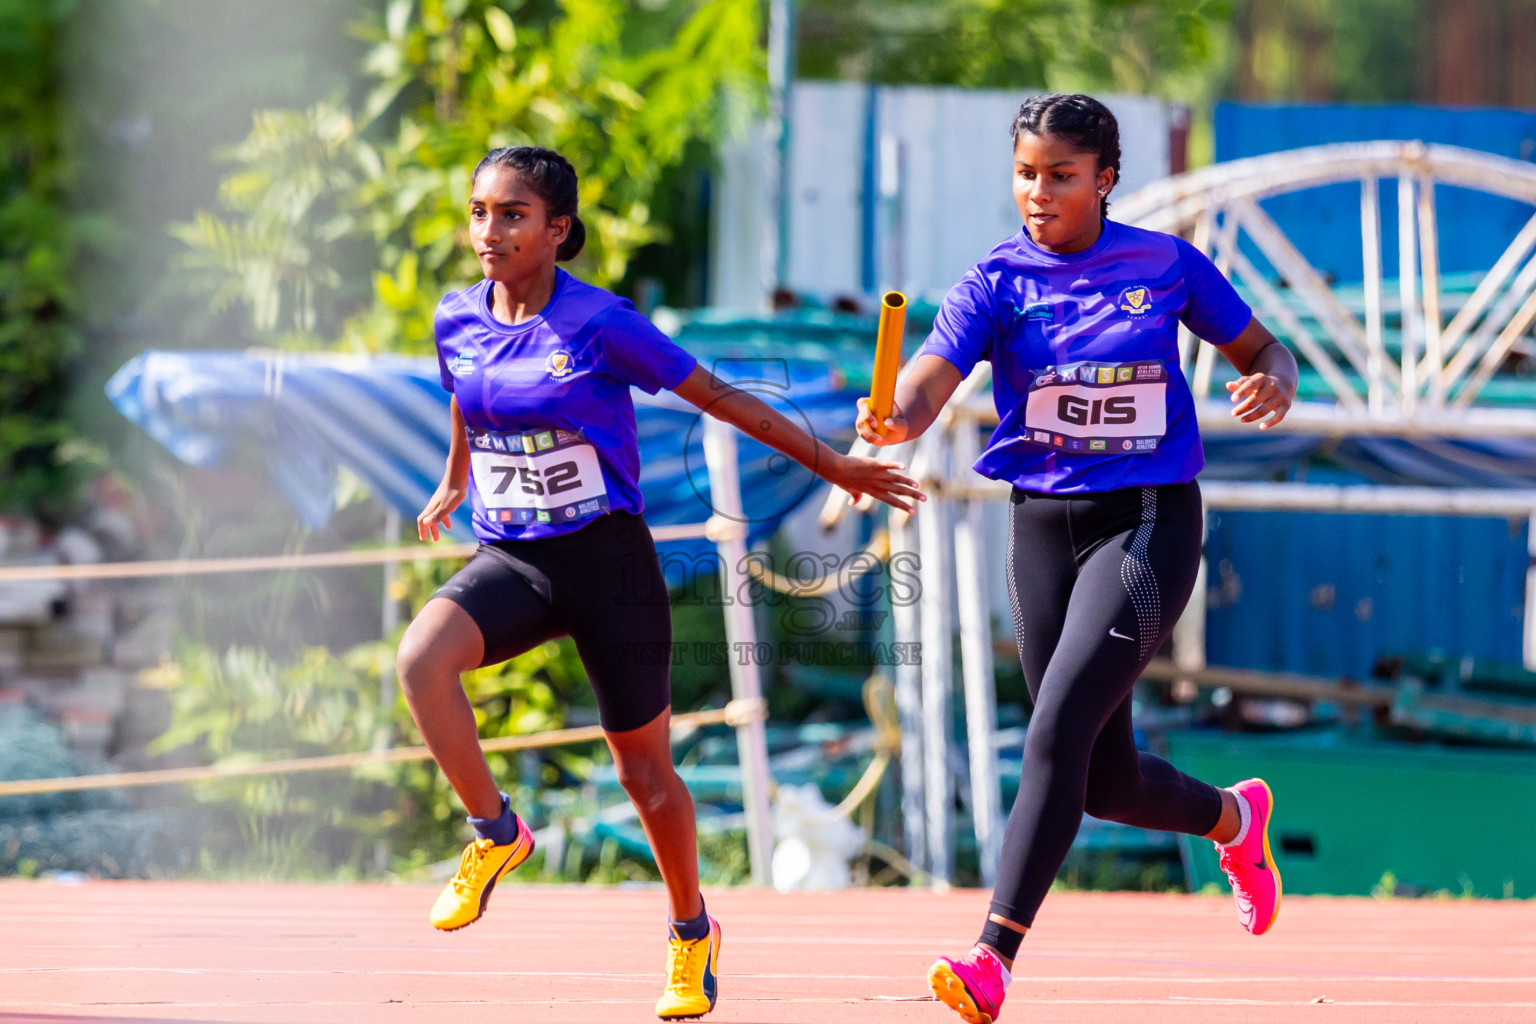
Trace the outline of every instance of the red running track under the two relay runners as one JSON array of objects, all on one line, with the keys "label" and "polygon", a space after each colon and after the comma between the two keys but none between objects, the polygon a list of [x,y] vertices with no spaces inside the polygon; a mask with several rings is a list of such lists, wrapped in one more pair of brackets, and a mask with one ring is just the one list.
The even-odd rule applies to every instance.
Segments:
[{"label": "red running track under the two relay runners", "polygon": [[[422,886],[0,881],[0,1024],[654,1021],[657,889],[504,884],[433,932]],[[958,1021],[935,953],[985,894],[708,894],[737,1024]],[[1005,1024],[1536,1021],[1536,904],[1287,898],[1253,938],[1230,900],[1055,894]]]}]

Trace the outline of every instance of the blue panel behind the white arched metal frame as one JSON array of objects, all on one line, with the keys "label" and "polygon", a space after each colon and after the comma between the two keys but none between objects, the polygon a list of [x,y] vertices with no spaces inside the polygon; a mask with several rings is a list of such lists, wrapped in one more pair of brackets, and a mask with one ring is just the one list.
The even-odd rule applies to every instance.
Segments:
[{"label": "blue panel behind the white arched metal frame", "polygon": [[[1516,160],[1536,157],[1536,111],[1220,103],[1215,129],[1218,161],[1378,138],[1416,138]],[[1467,189],[1439,187],[1435,201],[1444,273],[1485,272],[1531,215],[1524,203]],[[1292,192],[1263,206],[1318,270],[1338,281],[1364,276],[1358,184]],[[1396,276],[1398,195],[1390,184],[1381,190],[1381,207],[1382,267]]]}]

